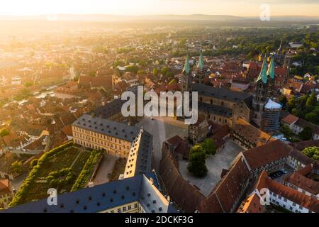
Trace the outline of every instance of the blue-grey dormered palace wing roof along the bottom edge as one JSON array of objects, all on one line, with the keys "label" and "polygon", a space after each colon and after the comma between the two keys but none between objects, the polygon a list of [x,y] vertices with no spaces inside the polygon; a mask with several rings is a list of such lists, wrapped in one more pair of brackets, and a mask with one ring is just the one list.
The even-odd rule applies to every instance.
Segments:
[{"label": "blue-grey dormered palace wing roof along the bottom edge", "polygon": [[[152,178],[152,179],[151,179]],[[106,184],[59,194],[57,206],[47,199],[13,206],[6,213],[97,213],[138,201],[148,213],[174,213],[176,209],[157,189],[154,173],[117,180]]]}]

